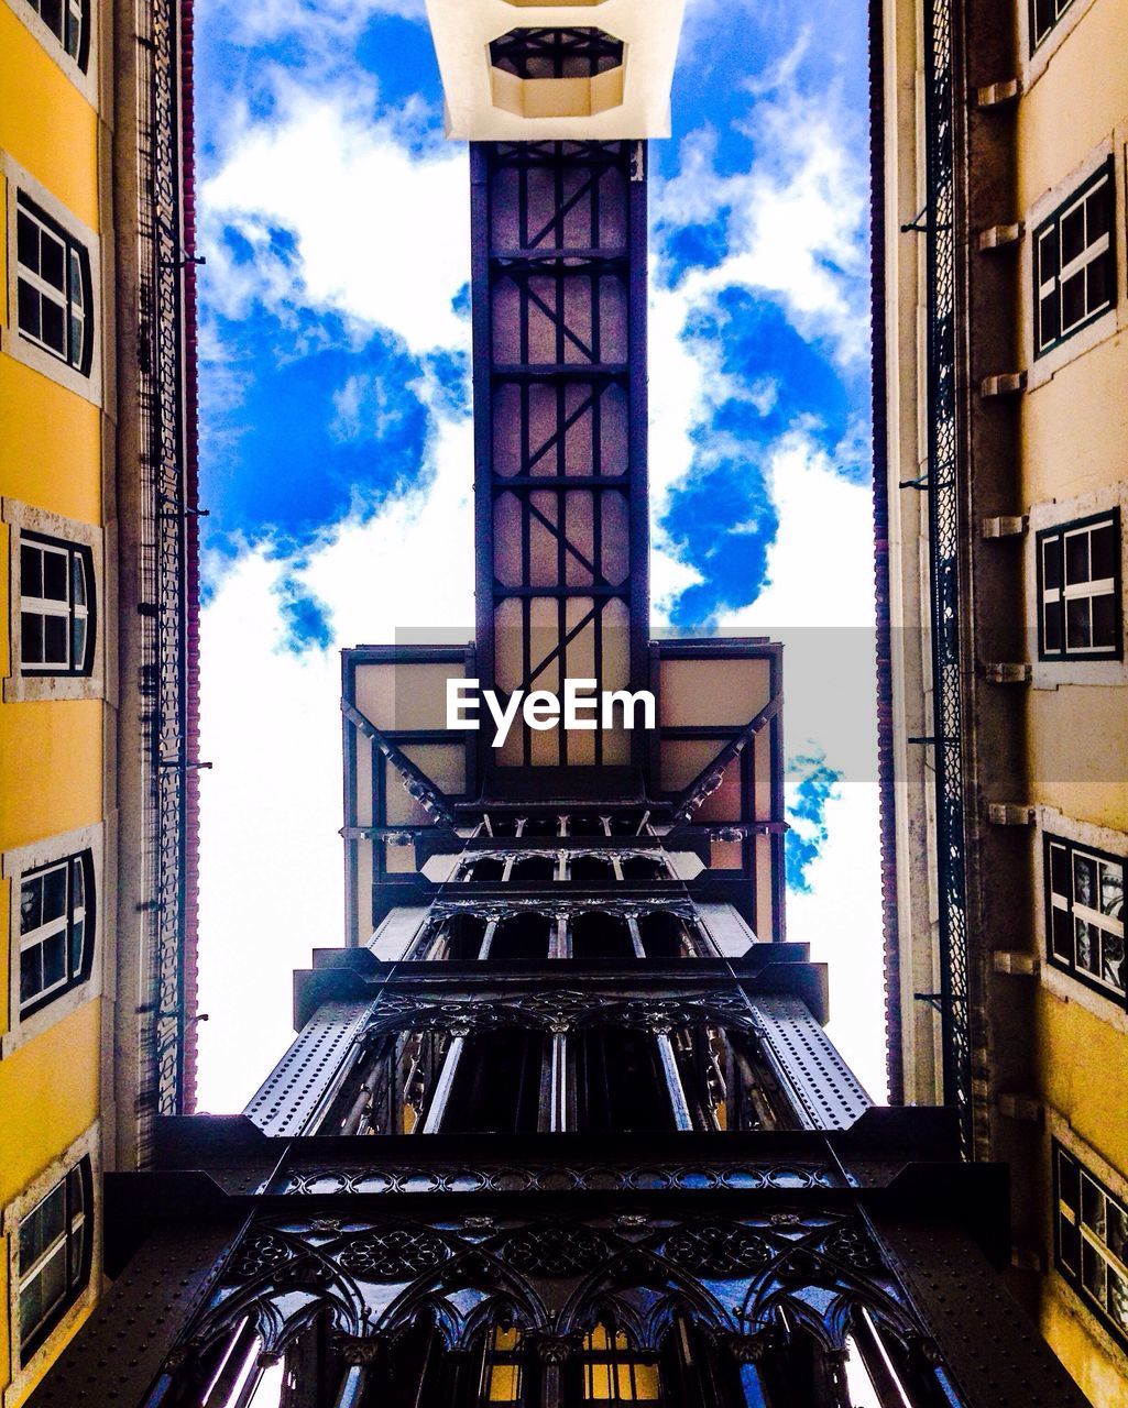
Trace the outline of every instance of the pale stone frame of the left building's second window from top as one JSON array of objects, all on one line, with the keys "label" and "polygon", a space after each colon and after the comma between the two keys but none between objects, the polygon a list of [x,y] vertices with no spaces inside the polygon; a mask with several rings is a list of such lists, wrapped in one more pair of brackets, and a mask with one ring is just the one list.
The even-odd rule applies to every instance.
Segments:
[{"label": "pale stone frame of the left building's second window from top", "polygon": [[[21,0],[23,3],[23,0]],[[48,31],[49,32],[49,31]],[[62,201],[56,200],[55,196],[35,177],[24,170],[18,162],[6,152],[3,153],[3,170],[7,179],[7,291],[8,291],[8,321],[4,328],[3,342],[0,346],[8,356],[15,358],[17,362],[23,362],[25,366],[32,367],[35,372],[42,372],[44,376],[49,377],[52,382],[58,382],[70,391],[76,391],[83,400],[93,401],[94,406],[101,406],[101,384],[103,384],[103,370],[101,370],[101,321],[103,321],[103,287],[101,287],[101,245],[99,237],[84,225],[76,215],[73,215]],[[84,352],[83,365],[86,370],[80,370],[73,366],[65,356],[52,351],[48,344],[39,342],[30,334],[20,329],[20,282],[24,280],[28,284],[37,287],[39,293],[46,291],[49,297],[58,298],[61,290],[45,280],[37,280],[35,275],[20,263],[18,258],[18,224],[20,215],[28,215],[25,206],[20,204],[20,196],[31,201],[32,206],[38,207],[48,221],[62,231],[65,241],[68,242],[65,248],[73,245],[80,249],[84,256],[86,268],[86,283],[84,296],[89,296],[89,303],[83,303],[82,321],[83,321],[83,337],[84,337]],[[32,214],[32,218],[34,214]],[[38,220],[42,225],[42,220]],[[55,238],[58,238],[58,231],[51,231]],[[70,270],[69,256],[65,260],[65,268]],[[69,310],[69,300],[68,300]],[[68,338],[69,320],[68,320]]]}]

